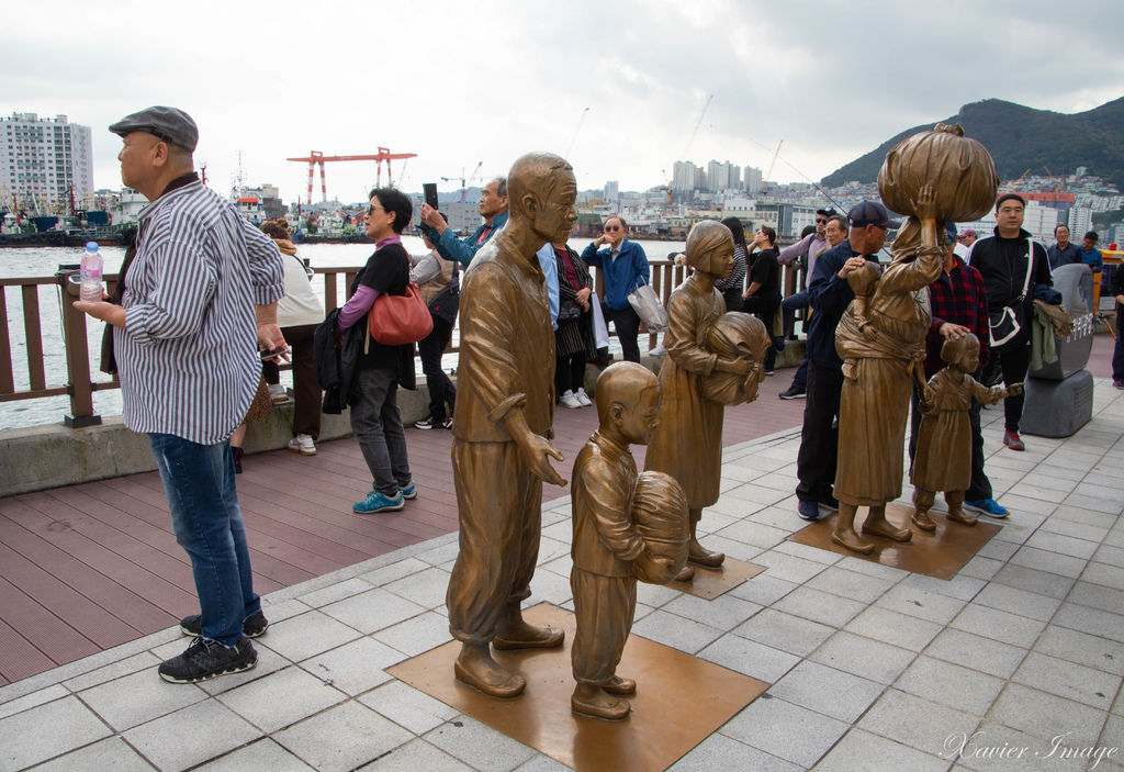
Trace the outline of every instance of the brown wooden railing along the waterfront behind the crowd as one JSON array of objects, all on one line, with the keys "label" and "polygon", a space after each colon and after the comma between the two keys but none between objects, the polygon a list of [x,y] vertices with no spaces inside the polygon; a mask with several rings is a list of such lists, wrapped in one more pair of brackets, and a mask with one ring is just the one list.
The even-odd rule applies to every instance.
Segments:
[{"label": "brown wooden railing along the waterfront behind the crowd", "polygon": [[[687,278],[687,269],[674,265],[667,260],[650,261],[652,267],[652,289],[667,303],[671,292]],[[324,282],[325,312],[342,305],[347,288],[354,281],[360,266],[330,266],[314,269]],[[792,266],[781,266],[781,288],[783,294],[790,294],[801,285],[798,271]],[[605,296],[604,279],[592,269],[595,282],[600,297]],[[40,397],[70,397],[70,412],[64,415],[63,423],[73,428],[92,426],[101,423],[101,417],[93,411],[93,392],[106,389],[118,389],[120,383],[116,378],[94,381],[92,374],[98,372],[100,351],[90,351],[88,343],[87,316],[75,310],[71,305],[73,297],[67,294],[67,276],[73,269],[60,270],[54,276],[29,276],[17,279],[0,279],[0,403],[18,400],[38,399]],[[342,279],[342,281],[341,281]],[[116,274],[107,274],[108,291],[112,291]],[[43,315],[40,309],[39,288],[57,287],[62,316],[62,336],[65,351],[66,374],[64,382],[48,382],[44,361]],[[12,358],[13,330],[8,324],[9,292],[19,294],[22,300],[22,342],[27,357],[27,388],[16,388],[15,361]],[[615,333],[614,333],[615,334]],[[649,334],[650,346],[658,342],[655,334]],[[17,345],[16,348],[19,346]],[[451,351],[455,352],[456,346]],[[97,357],[97,358],[94,358]],[[288,365],[283,365],[288,367]],[[0,421],[2,426],[2,421]]]}]

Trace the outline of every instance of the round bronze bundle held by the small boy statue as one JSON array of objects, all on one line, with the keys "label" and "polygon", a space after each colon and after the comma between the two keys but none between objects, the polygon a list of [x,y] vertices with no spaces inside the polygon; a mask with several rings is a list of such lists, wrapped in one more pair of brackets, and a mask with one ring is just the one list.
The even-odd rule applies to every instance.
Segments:
[{"label": "round bronze bundle held by the small boy statue", "polygon": [[[647,553],[656,558],[659,571],[636,565],[636,579],[650,584],[667,584],[687,563],[687,497],[670,474],[642,472],[633,494],[633,521],[647,543]],[[663,560],[660,560],[663,558]]]}]

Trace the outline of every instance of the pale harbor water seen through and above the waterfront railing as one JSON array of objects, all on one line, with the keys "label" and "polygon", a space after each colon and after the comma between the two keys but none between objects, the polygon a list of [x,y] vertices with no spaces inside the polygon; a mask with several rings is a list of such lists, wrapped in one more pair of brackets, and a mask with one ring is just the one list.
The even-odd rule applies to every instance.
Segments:
[{"label": "pale harbor water seen through and above the waterfront railing", "polygon": [[[578,252],[589,244],[589,238],[575,238],[570,242]],[[637,242],[644,247],[649,260],[664,260],[670,253],[682,252],[683,242]],[[414,255],[426,252],[425,244],[417,236],[404,236],[402,245]],[[298,256],[307,257],[312,267],[362,267],[372,251],[370,244],[298,244]],[[82,247],[17,247],[0,249],[0,279],[48,278],[53,276],[61,264],[76,264],[82,257]],[[117,246],[105,246],[100,249],[105,260],[106,273],[117,273],[125,256],[125,249]],[[312,288],[323,300],[324,282],[317,278]],[[343,289],[341,289],[343,292]],[[26,390],[30,384],[27,363],[27,339],[24,334],[24,301],[18,289],[8,288],[4,292],[8,317],[8,337],[11,345],[11,358],[15,385],[17,390]],[[342,298],[342,296],[341,296]],[[43,337],[43,360],[47,385],[57,385],[66,381],[66,360],[63,348],[63,331],[60,289],[55,284],[45,284],[38,289],[39,319]],[[98,370],[101,335],[103,325],[96,320],[87,324],[89,338],[91,373],[93,381],[109,382],[109,375]],[[454,343],[456,342],[454,329]],[[613,338],[616,348],[616,338]],[[417,361],[420,375],[420,361]],[[443,361],[446,370],[456,367],[456,355],[446,354]],[[291,373],[281,374],[281,382],[292,385]],[[107,389],[93,392],[94,412],[101,416],[117,416],[121,412],[121,394],[118,389]],[[58,424],[70,410],[66,397],[44,397],[39,399],[0,402],[0,429]]]}]

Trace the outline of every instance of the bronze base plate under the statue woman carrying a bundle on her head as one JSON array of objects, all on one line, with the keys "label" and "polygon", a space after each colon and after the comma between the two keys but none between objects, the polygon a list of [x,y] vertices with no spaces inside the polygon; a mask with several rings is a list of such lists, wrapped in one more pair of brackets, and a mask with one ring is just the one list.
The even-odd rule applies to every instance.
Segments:
[{"label": "bronze base plate under the statue woman carrying a bundle on her head", "polygon": [[964,567],[972,555],[987,544],[988,539],[995,536],[1000,528],[991,523],[985,523],[984,518],[980,518],[975,526],[949,523],[944,518],[944,512],[931,509],[928,515],[936,524],[936,530],[930,534],[913,527],[909,523],[914,512],[913,507],[889,503],[886,506],[886,519],[899,528],[909,528],[914,533],[912,542],[898,544],[881,536],[862,533],[862,524],[869,511],[867,507],[859,508],[859,514],[854,518],[854,529],[863,539],[874,545],[874,552],[870,555],[860,555],[832,542],[835,521],[839,519],[837,512],[801,528],[789,536],[789,541],[890,565],[903,571],[949,580],[955,576],[957,572]]}]

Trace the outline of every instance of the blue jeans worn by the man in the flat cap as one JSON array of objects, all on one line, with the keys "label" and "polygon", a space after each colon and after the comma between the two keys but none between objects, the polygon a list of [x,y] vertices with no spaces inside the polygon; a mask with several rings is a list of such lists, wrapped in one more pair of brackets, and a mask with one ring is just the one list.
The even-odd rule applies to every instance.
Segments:
[{"label": "blue jeans worn by the man in the flat cap", "polygon": [[148,438],[175,541],[191,558],[202,637],[233,646],[243,620],[260,611],[262,601],[254,593],[230,443],[199,445],[171,434]]}]

